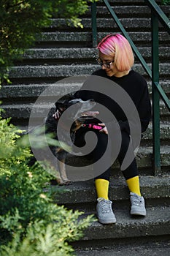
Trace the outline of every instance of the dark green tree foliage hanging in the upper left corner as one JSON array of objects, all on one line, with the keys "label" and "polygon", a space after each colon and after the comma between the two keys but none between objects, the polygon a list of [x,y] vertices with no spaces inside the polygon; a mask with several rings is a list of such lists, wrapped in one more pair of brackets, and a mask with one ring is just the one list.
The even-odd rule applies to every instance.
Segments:
[{"label": "dark green tree foliage hanging in the upper left corner", "polygon": [[42,27],[50,26],[50,18],[71,19],[74,26],[82,26],[79,15],[87,10],[88,0],[1,0],[0,84],[9,82],[9,67],[34,43]]}]

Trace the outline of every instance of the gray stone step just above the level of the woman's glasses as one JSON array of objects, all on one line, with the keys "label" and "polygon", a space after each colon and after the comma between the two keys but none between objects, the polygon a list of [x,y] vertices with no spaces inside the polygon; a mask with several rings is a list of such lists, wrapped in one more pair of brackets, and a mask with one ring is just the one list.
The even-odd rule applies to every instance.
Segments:
[{"label": "gray stone step just above the level of the woman's glasses", "polygon": [[[150,59],[151,60],[151,48],[148,47],[142,47],[138,48],[139,52],[142,54],[144,59]],[[34,62],[42,61],[44,63],[48,63],[51,61],[53,62],[53,59],[56,60],[56,62],[59,63],[79,63],[82,62],[89,62],[91,59],[93,62],[96,62],[96,58],[98,56],[98,50],[92,49],[92,48],[32,48],[29,50],[26,50],[26,53],[22,56],[21,63],[29,63],[33,64]],[[159,58],[162,59],[169,59],[170,58],[170,52],[169,47],[160,47],[159,48]]]}]

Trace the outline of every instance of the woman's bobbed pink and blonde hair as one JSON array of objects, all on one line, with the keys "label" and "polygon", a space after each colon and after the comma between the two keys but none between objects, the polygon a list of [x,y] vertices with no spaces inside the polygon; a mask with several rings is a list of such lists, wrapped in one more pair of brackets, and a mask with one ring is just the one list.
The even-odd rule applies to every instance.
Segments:
[{"label": "woman's bobbed pink and blonde hair", "polygon": [[109,34],[98,43],[98,50],[115,57],[115,65],[122,72],[131,69],[134,65],[134,53],[128,40],[121,34]]}]

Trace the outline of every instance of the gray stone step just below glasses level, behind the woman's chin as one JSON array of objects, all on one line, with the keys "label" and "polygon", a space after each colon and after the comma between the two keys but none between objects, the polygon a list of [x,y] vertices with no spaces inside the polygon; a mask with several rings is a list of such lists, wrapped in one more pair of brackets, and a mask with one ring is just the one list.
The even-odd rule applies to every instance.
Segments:
[{"label": "gray stone step just below glasses level, behind the woman's chin", "polygon": [[[148,64],[151,67],[150,64]],[[12,67],[9,71],[9,78],[13,79],[24,79],[25,81],[31,78],[43,78],[44,83],[48,79],[57,81],[62,78],[75,76],[75,75],[91,75],[96,69],[100,68],[97,64],[72,64],[72,65],[25,65],[25,66],[15,66]],[[141,64],[134,64],[133,67],[136,72],[139,72],[141,75],[147,75],[144,71]],[[163,77],[166,80],[169,77],[169,63],[160,64],[160,77]],[[27,82],[27,83],[28,83]],[[34,82],[35,83],[35,82]]]}]

